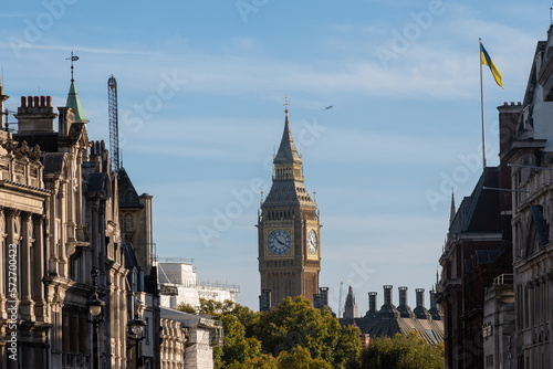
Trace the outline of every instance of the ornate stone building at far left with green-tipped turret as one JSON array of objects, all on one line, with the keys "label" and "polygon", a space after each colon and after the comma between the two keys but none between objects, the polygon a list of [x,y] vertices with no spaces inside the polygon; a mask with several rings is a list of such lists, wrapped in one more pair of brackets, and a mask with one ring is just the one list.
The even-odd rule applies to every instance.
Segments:
[{"label": "ornate stone building at far left with green-tipped turret", "polygon": [[[0,95],[3,109],[1,87]],[[2,120],[0,134],[0,254],[17,254],[13,294],[9,264],[0,265],[0,367],[91,366],[87,302],[97,268],[105,303],[101,363],[126,368],[127,271],[118,247],[117,181],[103,143],[88,141],[73,80],[66,106],[54,112],[50,96],[23,96],[15,118],[18,133],[4,131]],[[14,305],[17,324],[9,325]],[[9,357],[11,336],[17,360]]]}]

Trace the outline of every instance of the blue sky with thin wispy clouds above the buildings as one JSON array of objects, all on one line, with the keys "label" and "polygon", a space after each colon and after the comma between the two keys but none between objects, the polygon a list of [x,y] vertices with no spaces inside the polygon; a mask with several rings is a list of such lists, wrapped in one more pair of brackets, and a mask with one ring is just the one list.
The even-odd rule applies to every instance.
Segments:
[{"label": "blue sky with thin wispy clouds above the buildings", "polygon": [[[522,99],[550,1],[82,1],[3,3],[2,85],[65,104],[75,81],[90,139],[108,141],[107,78],[118,83],[124,167],[154,196],[161,257],[240,284],[258,308],[257,211],[289,96],[305,184],[321,211],[320,284],[359,313],[382,286],[429,291],[457,205],[481,173],[479,44],[488,165],[498,112]],[[332,105],[332,109],[324,109]],[[14,118],[10,116],[10,122]],[[240,200],[237,198],[239,197]],[[220,215],[223,214],[223,215]],[[225,218],[225,219],[222,219]],[[211,230],[212,236],[201,238]],[[428,295],[426,295],[428,305]]]}]

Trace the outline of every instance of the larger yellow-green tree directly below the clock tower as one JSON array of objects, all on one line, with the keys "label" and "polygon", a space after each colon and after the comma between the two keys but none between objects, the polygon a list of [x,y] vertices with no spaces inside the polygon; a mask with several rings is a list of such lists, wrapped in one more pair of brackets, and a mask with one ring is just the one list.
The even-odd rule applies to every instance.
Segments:
[{"label": "larger yellow-green tree directly below the clock tower", "polygon": [[[190,308],[179,305],[181,310],[191,313]],[[223,346],[213,349],[216,369],[359,366],[359,329],[342,327],[328,308],[315,309],[302,296],[261,313],[232,302],[200,299],[197,313],[222,323]]]}]

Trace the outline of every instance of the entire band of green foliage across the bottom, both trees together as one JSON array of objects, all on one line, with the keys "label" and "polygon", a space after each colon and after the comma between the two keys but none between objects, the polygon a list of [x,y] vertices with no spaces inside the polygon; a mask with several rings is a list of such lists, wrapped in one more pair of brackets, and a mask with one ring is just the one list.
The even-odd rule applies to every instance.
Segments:
[{"label": "entire band of green foliage across the bottom, both trees together", "polygon": [[213,349],[216,369],[445,368],[444,345],[431,346],[415,331],[373,338],[362,351],[357,327],[342,327],[330,309],[315,309],[301,296],[261,313],[209,299],[200,299],[197,312],[184,304],[178,309],[221,320],[225,338]]}]

